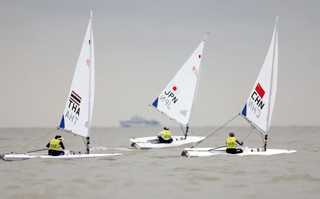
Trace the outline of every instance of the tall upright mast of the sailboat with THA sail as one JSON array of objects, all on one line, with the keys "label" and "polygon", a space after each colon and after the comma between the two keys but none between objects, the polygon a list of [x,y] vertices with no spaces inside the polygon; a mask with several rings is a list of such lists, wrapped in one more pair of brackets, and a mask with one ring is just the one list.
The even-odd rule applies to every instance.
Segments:
[{"label": "tall upright mast of the sailboat with THA sail", "polygon": [[89,100],[88,100],[88,135],[87,135],[87,154],[90,150],[90,125],[91,125],[91,52],[92,52],[92,11],[90,13],[90,57],[89,57]]}]

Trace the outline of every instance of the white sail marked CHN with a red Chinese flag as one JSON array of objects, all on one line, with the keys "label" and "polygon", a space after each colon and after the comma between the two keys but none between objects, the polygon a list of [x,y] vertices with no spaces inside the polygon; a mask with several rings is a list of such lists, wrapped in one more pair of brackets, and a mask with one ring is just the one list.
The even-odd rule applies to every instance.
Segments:
[{"label": "white sail marked CHN with a red Chinese flag", "polygon": [[[273,74],[271,75],[272,71]],[[242,115],[249,119],[256,127],[266,133],[270,127],[271,116],[276,98],[277,73],[278,36],[276,26],[273,32],[267,57],[262,65],[259,76],[253,85],[252,91],[250,92],[249,98],[242,111]],[[268,116],[269,97],[270,108]]]}]

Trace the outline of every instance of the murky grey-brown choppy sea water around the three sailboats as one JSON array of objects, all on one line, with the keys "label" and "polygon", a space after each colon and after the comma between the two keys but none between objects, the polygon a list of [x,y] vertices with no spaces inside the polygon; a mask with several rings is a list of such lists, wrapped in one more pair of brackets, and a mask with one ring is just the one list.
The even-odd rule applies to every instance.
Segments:
[{"label": "murky grey-brown choppy sea water around the three sailboats", "polygon": [[[216,127],[190,128],[190,136],[207,136]],[[0,129],[0,153],[12,152],[54,129]],[[171,128],[180,135],[180,128]],[[156,135],[161,127],[92,128],[93,153],[123,153],[116,161],[0,161],[1,198],[319,198],[319,127],[271,127],[268,147],[297,150],[270,156],[180,156],[183,148],[139,150],[129,139]],[[226,127],[197,147],[224,146],[228,132],[243,140],[247,127]],[[193,134],[194,133],[194,134]],[[82,138],[55,131],[27,147],[42,149],[62,135],[66,149],[83,151]],[[71,143],[69,141],[72,139]],[[244,145],[262,147],[258,131]],[[229,196],[228,196],[229,195]]]}]

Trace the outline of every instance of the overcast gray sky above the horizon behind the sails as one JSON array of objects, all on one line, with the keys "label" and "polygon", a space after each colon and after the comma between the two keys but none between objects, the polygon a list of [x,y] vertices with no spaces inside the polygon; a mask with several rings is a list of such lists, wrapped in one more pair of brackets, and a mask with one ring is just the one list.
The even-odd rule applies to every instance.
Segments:
[{"label": "overcast gray sky above the horizon behind the sails", "polygon": [[[60,124],[90,10],[95,39],[93,126],[134,114],[178,125],[148,107],[205,32],[191,126],[241,111],[279,15],[278,87],[271,126],[318,125],[318,1],[1,1],[0,127]],[[232,125],[247,125],[238,119]]]}]

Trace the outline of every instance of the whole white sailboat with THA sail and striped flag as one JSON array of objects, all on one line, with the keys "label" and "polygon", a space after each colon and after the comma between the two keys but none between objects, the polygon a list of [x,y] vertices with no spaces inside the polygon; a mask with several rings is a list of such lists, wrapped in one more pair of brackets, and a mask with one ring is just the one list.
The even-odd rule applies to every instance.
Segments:
[{"label": "whole white sailboat with THA sail and striped flag", "polygon": [[80,56],[76,65],[71,88],[68,94],[67,103],[62,115],[60,125],[57,129],[67,133],[86,138],[86,153],[76,153],[65,150],[64,155],[51,156],[48,154],[3,154],[6,161],[28,160],[34,157],[41,157],[51,160],[72,160],[72,159],[107,159],[116,160],[121,153],[93,154],[90,150],[90,123],[92,118],[94,100],[94,48],[92,32],[92,11],[89,25],[84,37]]}]

